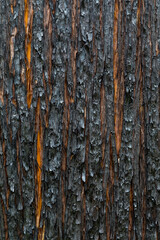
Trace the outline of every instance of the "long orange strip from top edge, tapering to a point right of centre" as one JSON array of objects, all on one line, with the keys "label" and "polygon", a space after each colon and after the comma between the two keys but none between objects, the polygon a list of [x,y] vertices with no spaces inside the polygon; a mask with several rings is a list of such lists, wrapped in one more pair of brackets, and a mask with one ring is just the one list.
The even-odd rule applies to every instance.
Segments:
[{"label": "long orange strip from top edge, tapering to a point right of centre", "polygon": [[[121,148],[121,135],[123,124],[123,102],[124,102],[124,74],[119,71],[119,56],[118,56],[118,16],[119,16],[119,0],[115,0],[114,7],[114,29],[113,29],[113,79],[114,79],[114,124],[116,150],[119,157]],[[123,60],[123,59],[121,59]],[[122,63],[121,63],[121,66]],[[123,67],[122,67],[123,68]],[[122,70],[122,69],[121,69]]]}]

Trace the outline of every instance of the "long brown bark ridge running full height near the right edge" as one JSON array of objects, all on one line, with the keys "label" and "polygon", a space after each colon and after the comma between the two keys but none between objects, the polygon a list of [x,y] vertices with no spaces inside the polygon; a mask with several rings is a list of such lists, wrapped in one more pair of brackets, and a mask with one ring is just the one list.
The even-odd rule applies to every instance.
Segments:
[{"label": "long brown bark ridge running full height near the right edge", "polygon": [[[142,213],[142,239],[146,238],[146,157],[145,157],[145,108],[144,108],[144,79],[145,63],[143,57],[143,13],[144,2],[138,0],[137,6],[137,46],[136,46],[136,85],[134,89],[135,107],[137,109],[136,118],[139,116],[139,184],[140,184],[140,208]],[[136,119],[135,121],[137,121]]]}]

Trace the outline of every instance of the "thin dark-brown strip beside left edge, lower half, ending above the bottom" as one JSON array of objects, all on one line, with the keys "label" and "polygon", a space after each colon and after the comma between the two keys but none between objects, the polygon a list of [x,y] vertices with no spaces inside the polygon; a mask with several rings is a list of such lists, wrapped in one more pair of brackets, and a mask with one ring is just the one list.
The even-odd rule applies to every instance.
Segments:
[{"label": "thin dark-brown strip beside left edge, lower half, ending above the bottom", "polygon": [[8,173],[7,173],[7,166],[6,166],[6,147],[5,147],[5,140],[3,139],[2,143],[2,151],[3,151],[3,166],[5,171],[5,181],[6,181],[6,206],[8,210],[8,201],[9,201],[9,185],[8,185]]}]

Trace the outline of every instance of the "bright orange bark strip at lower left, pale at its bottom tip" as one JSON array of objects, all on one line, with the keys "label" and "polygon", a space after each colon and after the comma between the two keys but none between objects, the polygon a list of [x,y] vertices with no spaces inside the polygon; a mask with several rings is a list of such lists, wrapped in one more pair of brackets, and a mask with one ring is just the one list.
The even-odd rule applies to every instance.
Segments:
[{"label": "bright orange bark strip at lower left, pale at its bottom tip", "polygon": [[40,98],[37,101],[36,112],[37,133],[37,171],[35,176],[35,196],[36,196],[36,227],[39,228],[42,209],[42,164],[43,164],[43,128],[40,115]]}]

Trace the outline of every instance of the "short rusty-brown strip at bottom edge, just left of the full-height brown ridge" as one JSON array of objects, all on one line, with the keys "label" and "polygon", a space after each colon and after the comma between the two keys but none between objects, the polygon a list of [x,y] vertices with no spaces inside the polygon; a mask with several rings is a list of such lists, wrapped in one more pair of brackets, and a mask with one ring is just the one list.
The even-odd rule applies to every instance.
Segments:
[{"label": "short rusty-brown strip at bottom edge, just left of the full-height brown ridge", "polygon": [[129,227],[128,227],[128,239],[133,239],[133,214],[134,214],[134,208],[133,208],[133,182],[131,181],[130,186],[130,196],[129,196]]}]

